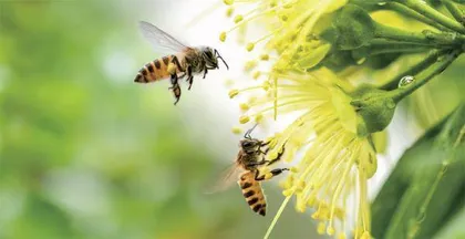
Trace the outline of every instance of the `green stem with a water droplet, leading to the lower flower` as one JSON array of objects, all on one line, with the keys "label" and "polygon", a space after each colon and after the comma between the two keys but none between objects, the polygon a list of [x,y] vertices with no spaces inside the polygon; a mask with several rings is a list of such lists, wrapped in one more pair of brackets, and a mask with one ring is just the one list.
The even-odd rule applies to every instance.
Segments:
[{"label": "green stem with a water droplet, leading to the lower flower", "polygon": [[392,100],[395,103],[399,103],[402,98],[412,94],[415,90],[423,86],[434,76],[441,74],[445,69],[447,69],[447,66],[451,65],[461,53],[461,50],[454,50],[450,54],[436,58],[436,64],[433,64],[431,67],[420,73],[420,75],[415,76],[415,81],[404,87],[391,91],[390,94],[392,94]]}]

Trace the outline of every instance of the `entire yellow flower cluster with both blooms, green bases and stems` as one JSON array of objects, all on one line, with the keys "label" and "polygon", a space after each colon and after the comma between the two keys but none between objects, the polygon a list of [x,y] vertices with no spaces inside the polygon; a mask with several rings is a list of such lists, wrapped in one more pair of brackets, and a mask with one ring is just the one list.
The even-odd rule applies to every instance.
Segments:
[{"label": "entire yellow flower cluster with both blooms, green bases and stems", "polygon": [[[298,211],[311,210],[319,233],[372,238],[368,180],[376,173],[379,149],[373,134],[388,127],[401,100],[464,51],[465,17],[456,3],[444,2],[455,21],[420,0],[247,1],[251,10],[237,13],[235,25],[220,33],[226,41],[231,31],[252,23],[269,30],[246,50],[257,51],[264,42],[259,60],[271,66],[252,72],[258,61],[247,62],[258,83],[229,92],[242,102],[239,122],[294,117],[268,138],[268,159],[286,149],[282,160],[294,167],[281,185],[286,199],[266,238],[292,197]],[[245,2],[225,3],[238,12]],[[396,28],[380,11],[402,15],[401,21],[409,18],[414,28]],[[413,53],[423,60],[400,65],[401,56]],[[390,64],[402,70],[372,84],[360,79]]]}]

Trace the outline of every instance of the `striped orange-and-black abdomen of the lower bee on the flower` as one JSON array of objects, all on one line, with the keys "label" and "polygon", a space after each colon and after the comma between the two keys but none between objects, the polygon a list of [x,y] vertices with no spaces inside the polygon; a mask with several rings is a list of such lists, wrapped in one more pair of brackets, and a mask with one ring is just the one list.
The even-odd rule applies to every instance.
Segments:
[{"label": "striped orange-and-black abdomen of the lower bee on the flower", "polygon": [[250,208],[265,216],[267,214],[267,199],[265,198],[260,183],[255,180],[254,172],[246,172],[240,175],[240,179],[237,181],[242,189],[242,195],[247,200]]}]

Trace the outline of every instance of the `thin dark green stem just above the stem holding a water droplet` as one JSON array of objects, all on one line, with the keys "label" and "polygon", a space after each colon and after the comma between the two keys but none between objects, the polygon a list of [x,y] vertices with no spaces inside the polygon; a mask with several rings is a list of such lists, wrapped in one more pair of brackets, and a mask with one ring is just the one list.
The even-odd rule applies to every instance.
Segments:
[{"label": "thin dark green stem just above the stem holding a water droplet", "polygon": [[430,65],[434,64],[437,61],[437,58],[441,56],[441,55],[443,55],[443,54],[445,54],[446,51],[447,50],[433,51],[433,52],[431,52],[426,59],[424,59],[423,61],[418,62],[416,65],[413,65],[409,70],[399,73],[397,75],[395,75],[392,80],[390,80],[388,83],[385,83],[380,89],[381,90],[386,90],[386,91],[391,91],[391,90],[396,89],[397,85],[399,85],[399,81],[403,76],[418,74],[423,70],[430,67]]}]

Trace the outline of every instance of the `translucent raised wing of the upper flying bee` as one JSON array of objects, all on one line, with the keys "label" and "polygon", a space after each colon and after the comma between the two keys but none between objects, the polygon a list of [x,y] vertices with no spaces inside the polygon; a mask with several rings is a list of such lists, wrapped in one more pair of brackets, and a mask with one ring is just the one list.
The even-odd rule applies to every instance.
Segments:
[{"label": "translucent raised wing of the upper flying bee", "polygon": [[188,48],[152,23],[140,21],[138,27],[144,38],[147,39],[157,51],[166,52],[168,50],[170,52],[180,52]]}]

